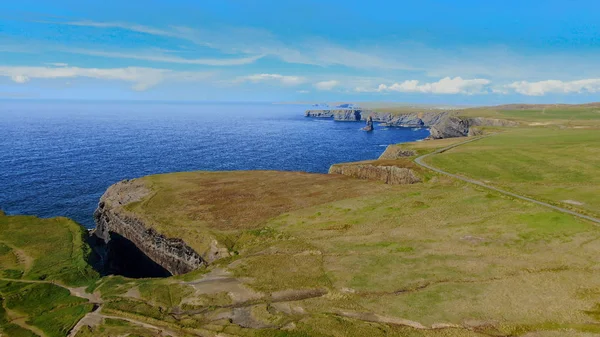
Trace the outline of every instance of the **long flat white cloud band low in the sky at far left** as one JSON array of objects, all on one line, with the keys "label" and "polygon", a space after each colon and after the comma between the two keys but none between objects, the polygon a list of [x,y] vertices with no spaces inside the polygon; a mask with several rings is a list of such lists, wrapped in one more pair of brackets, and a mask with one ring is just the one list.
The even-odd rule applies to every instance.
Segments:
[{"label": "long flat white cloud band low in the sky at far left", "polygon": [[65,79],[87,77],[101,80],[119,80],[132,83],[134,90],[143,91],[164,81],[200,81],[212,73],[173,71],[155,68],[79,68],[79,67],[12,67],[0,66],[0,76],[10,77],[16,83],[30,79]]}]

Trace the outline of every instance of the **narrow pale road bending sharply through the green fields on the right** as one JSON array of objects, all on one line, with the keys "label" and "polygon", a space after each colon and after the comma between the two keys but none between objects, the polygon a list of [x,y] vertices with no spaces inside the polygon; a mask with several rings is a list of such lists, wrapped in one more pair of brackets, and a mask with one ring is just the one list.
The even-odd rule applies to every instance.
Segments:
[{"label": "narrow pale road bending sharply through the green fields on the right", "polygon": [[[490,136],[493,136],[493,135],[490,135]],[[466,177],[463,177],[463,176],[460,176],[460,175],[457,175],[457,174],[453,174],[453,173],[449,173],[449,172],[440,170],[438,168],[435,168],[435,167],[433,167],[433,166],[431,166],[431,165],[426,164],[426,163],[423,162],[424,159],[426,159],[428,157],[431,157],[433,155],[440,154],[440,153],[446,152],[448,150],[451,150],[451,149],[453,149],[455,147],[458,147],[458,146],[461,146],[461,145],[464,145],[464,144],[468,144],[468,143],[471,143],[471,142],[475,142],[475,141],[478,141],[480,139],[483,139],[483,138],[486,138],[486,137],[490,137],[490,136],[484,136],[484,137],[474,138],[474,139],[467,140],[465,142],[461,142],[461,143],[458,143],[458,144],[447,146],[445,148],[439,149],[439,150],[434,151],[432,153],[429,153],[429,154],[426,154],[426,155],[418,157],[417,159],[415,159],[415,163],[417,163],[418,165],[420,165],[420,166],[422,166],[424,168],[430,169],[430,170],[435,171],[437,173],[441,173],[441,174],[447,175],[447,176],[452,177],[454,179],[462,180],[462,181],[465,181],[465,182],[470,183],[470,184],[475,184],[477,186],[481,186],[481,187],[490,189],[492,191],[496,191],[498,193],[502,193],[504,195],[508,195],[510,197],[513,197],[513,198],[517,198],[517,199],[525,200],[525,201],[528,201],[528,202],[532,202],[534,204],[538,204],[540,206],[551,208],[551,209],[553,209],[555,211],[558,211],[558,212],[561,212],[561,213],[565,213],[565,214],[569,214],[569,215],[574,215],[576,217],[579,217],[579,218],[582,218],[582,219],[589,220],[589,221],[595,222],[597,224],[600,224],[600,219],[598,219],[598,218],[594,218],[594,217],[589,216],[589,215],[581,214],[581,213],[572,211],[570,209],[562,208],[562,207],[559,207],[559,206],[554,206],[554,205],[551,205],[551,204],[549,204],[547,202],[543,202],[543,201],[539,201],[539,200],[536,200],[536,199],[532,199],[532,198],[529,198],[529,197],[526,197],[526,196],[523,196],[523,195],[519,195],[519,194],[516,194],[516,193],[513,193],[513,192],[505,191],[503,189],[500,189],[500,188],[497,188],[497,187],[485,184],[485,183],[483,183],[483,182],[481,182],[479,180],[475,180],[475,179],[471,179],[471,178],[466,178]]]}]

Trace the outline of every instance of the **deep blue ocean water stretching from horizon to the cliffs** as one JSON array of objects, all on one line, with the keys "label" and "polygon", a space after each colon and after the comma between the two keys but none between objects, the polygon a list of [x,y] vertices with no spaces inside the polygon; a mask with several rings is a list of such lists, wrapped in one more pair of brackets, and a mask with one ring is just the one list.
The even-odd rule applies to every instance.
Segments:
[{"label": "deep blue ocean water stretching from horizon to the cliffs", "polygon": [[304,117],[307,106],[257,103],[0,101],[0,209],[93,227],[111,184],[193,170],[326,173],[377,158],[427,129],[361,131]]}]

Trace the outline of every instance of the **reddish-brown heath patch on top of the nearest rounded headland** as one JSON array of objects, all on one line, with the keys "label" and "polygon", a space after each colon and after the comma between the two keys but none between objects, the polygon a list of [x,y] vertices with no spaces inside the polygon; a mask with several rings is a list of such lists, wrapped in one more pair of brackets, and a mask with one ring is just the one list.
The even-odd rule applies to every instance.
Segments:
[{"label": "reddish-brown heath patch on top of the nearest rounded headland", "polygon": [[200,253],[211,233],[252,230],[286,212],[389,189],[347,177],[275,171],[184,172],[133,182],[150,193],[125,204],[126,210]]}]

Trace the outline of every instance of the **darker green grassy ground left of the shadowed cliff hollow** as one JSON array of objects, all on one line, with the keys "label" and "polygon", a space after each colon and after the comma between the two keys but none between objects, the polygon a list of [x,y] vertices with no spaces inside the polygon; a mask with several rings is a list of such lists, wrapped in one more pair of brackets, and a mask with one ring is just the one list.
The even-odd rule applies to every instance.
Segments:
[{"label": "darker green grassy ground left of the shadowed cliff hollow", "polygon": [[84,234],[65,218],[0,214],[0,334],[66,336],[92,310],[65,288],[98,279]]}]

